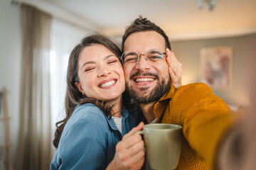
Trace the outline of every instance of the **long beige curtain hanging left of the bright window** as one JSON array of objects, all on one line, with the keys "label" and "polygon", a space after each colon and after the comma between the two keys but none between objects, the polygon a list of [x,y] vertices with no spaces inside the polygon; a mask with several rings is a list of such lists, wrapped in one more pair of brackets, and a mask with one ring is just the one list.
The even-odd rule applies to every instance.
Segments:
[{"label": "long beige curtain hanging left of the bright window", "polygon": [[23,47],[16,169],[49,169],[51,16],[25,4],[21,8]]}]

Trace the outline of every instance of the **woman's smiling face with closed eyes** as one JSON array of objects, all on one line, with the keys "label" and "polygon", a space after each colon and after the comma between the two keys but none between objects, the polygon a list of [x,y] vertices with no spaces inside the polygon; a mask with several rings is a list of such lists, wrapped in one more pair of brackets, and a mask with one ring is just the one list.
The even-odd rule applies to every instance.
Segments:
[{"label": "woman's smiling face with closed eyes", "polygon": [[78,60],[78,77],[80,83],[75,83],[75,86],[88,98],[118,100],[125,90],[122,64],[104,45],[96,44],[82,50]]}]

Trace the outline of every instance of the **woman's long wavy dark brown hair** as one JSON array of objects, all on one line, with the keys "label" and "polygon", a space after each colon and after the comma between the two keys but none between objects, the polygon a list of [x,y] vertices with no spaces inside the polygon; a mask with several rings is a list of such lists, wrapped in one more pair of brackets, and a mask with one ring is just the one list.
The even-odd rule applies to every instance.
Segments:
[{"label": "woman's long wavy dark brown hair", "polygon": [[60,136],[63,132],[65,124],[68,122],[68,119],[72,115],[75,107],[83,103],[93,103],[95,106],[102,109],[106,115],[110,115],[112,111],[112,106],[106,101],[99,101],[96,98],[87,98],[83,96],[78,88],[75,86],[75,82],[80,82],[78,77],[78,60],[80,53],[85,47],[100,44],[107,47],[111,52],[114,53],[117,57],[121,55],[119,47],[114,44],[110,39],[106,38],[103,35],[93,34],[89,35],[81,40],[81,42],[75,46],[75,48],[70,53],[70,58],[68,61],[68,73],[67,73],[67,91],[65,95],[65,118],[58,123],[56,123],[56,131],[53,140],[54,147],[58,147],[60,141]]}]

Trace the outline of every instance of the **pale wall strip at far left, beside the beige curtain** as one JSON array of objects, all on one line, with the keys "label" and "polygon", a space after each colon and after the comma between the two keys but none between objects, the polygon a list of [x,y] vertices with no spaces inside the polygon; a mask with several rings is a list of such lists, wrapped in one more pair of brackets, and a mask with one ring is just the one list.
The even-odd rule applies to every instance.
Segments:
[{"label": "pale wall strip at far left, beside the beige curtain", "polygon": [[[5,86],[9,91],[9,123],[12,154],[15,158],[21,81],[21,11],[19,6],[11,5],[7,0],[0,1],[0,51],[0,89]],[[0,145],[4,142],[4,123],[0,121]]]}]

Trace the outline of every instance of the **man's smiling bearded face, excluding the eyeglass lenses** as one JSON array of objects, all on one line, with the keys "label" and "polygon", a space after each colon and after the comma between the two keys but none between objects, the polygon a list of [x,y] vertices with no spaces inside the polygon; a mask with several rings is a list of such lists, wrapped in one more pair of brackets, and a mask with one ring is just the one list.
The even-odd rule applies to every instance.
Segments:
[{"label": "man's smiling bearded face, excluding the eyeglass lenses", "polygon": [[[132,33],[124,42],[124,52],[144,54],[151,49],[165,52],[164,38],[156,31]],[[151,64],[146,62],[144,55],[140,55],[137,65],[124,66],[124,77],[129,95],[138,103],[158,101],[171,87],[166,57]]]}]

